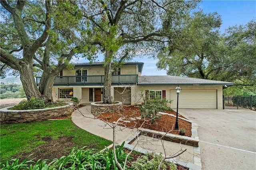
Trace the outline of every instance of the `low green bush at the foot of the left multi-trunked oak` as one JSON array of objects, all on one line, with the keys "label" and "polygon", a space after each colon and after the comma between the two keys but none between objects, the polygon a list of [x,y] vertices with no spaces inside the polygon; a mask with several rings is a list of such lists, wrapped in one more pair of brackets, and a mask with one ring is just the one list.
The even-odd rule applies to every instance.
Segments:
[{"label": "low green bush at the foot of the left multi-trunked oak", "polygon": [[11,107],[10,110],[30,110],[45,108],[44,100],[40,98],[30,98],[30,100],[22,100],[18,105]]}]

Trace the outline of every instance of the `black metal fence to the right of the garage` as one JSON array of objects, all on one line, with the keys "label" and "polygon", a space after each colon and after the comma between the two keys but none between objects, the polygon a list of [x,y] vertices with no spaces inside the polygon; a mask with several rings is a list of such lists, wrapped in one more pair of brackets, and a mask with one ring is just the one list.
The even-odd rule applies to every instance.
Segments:
[{"label": "black metal fence to the right of the garage", "polygon": [[252,109],[253,96],[223,96],[223,109]]}]

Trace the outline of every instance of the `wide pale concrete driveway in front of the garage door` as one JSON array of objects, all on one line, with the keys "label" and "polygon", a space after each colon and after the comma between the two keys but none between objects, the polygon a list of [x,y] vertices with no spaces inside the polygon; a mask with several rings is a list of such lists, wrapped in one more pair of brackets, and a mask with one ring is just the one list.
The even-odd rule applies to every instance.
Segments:
[{"label": "wide pale concrete driveway in front of the garage door", "polygon": [[256,111],[179,109],[198,123],[203,170],[256,169]]}]

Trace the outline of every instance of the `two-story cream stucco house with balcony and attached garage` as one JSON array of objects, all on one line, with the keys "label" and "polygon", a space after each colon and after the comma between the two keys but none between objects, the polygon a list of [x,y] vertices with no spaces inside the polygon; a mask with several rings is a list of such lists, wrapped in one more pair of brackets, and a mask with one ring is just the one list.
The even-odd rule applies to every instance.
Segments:
[{"label": "two-story cream stucco house with balcony and attached garage", "polygon": [[[143,97],[158,95],[172,100],[171,108],[176,108],[176,86],[182,91],[179,95],[179,108],[222,109],[223,86],[231,82],[186,78],[179,76],[141,76],[144,63],[128,62],[112,72],[111,96],[124,104],[140,104]],[[40,77],[36,77],[40,82]],[[102,63],[75,64],[74,70],[64,69],[54,81],[54,100],[70,100],[77,97],[80,104],[90,104],[103,100],[104,67]],[[150,93],[149,93],[150,92]],[[143,96],[141,96],[143,94]]]}]

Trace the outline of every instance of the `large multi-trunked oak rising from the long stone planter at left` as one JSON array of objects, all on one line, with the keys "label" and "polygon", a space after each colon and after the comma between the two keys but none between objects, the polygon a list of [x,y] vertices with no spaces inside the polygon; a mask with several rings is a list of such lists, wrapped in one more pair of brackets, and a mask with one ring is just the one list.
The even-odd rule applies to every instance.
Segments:
[{"label": "large multi-trunked oak rising from the long stone planter at left", "polygon": [[[5,27],[1,29],[1,77],[9,68],[18,71],[28,100],[52,101],[52,84],[59,72],[76,53],[93,51],[87,37],[79,36],[86,21],[78,20],[82,14],[77,9],[73,1],[1,0],[1,27]],[[39,88],[34,80],[38,71],[42,74]]]}]

